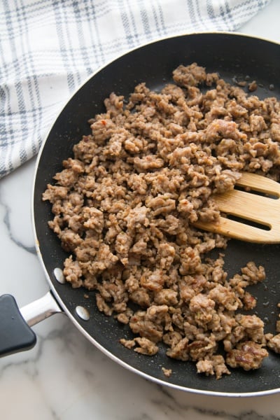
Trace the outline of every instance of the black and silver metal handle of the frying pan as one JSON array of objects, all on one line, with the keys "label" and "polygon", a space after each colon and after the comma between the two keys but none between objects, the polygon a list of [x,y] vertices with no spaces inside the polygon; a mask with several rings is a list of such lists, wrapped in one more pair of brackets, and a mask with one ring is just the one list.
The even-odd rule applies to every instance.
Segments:
[{"label": "black and silver metal handle of the frying pan", "polygon": [[12,295],[0,296],[0,356],[34,347],[36,335],[30,327],[58,312],[62,309],[51,292],[21,309]]}]

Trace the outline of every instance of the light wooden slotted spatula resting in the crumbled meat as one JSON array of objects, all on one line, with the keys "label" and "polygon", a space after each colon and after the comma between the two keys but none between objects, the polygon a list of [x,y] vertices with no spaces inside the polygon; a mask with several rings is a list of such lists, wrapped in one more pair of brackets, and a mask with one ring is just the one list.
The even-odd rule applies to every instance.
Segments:
[{"label": "light wooden slotted spatula resting in the crumbled meat", "polygon": [[[231,190],[213,196],[218,208],[228,217],[221,216],[215,223],[197,221],[194,225],[242,241],[280,243],[280,184],[265,176],[244,172],[236,185],[246,190],[250,188],[251,192]],[[254,192],[265,193],[266,196]],[[231,220],[230,216],[239,221]],[[248,225],[246,221],[258,226]]]}]

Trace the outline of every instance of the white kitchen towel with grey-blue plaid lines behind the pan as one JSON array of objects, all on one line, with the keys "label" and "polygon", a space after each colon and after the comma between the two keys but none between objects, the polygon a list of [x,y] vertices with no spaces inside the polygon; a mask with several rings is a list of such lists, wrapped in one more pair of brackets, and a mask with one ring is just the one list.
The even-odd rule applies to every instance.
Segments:
[{"label": "white kitchen towel with grey-blue plaid lines behind the pan", "polygon": [[123,52],[237,30],[269,0],[1,0],[0,177],[36,155],[73,90]]}]

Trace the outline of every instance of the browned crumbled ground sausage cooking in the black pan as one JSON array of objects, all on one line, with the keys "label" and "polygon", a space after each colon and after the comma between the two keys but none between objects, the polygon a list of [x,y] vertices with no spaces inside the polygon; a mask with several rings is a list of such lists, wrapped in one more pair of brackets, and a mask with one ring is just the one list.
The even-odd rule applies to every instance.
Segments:
[{"label": "browned crumbled ground sausage cooking in the black pan", "polygon": [[211,194],[234,188],[241,171],[279,181],[280,105],[195,63],[173,76],[161,92],[140,83],[127,102],[111,93],[43,200],[70,254],[66,280],[97,290],[99,310],[130,325],[135,337],[122,344],[151,356],[163,342],[170,358],[221,378],[260,367],[266,346],[279,353],[280,334],[244,314],[256,304],[246,286],[265,269],[250,261],[228,278],[223,253],[207,256],[228,239],[192,223],[219,217]]}]

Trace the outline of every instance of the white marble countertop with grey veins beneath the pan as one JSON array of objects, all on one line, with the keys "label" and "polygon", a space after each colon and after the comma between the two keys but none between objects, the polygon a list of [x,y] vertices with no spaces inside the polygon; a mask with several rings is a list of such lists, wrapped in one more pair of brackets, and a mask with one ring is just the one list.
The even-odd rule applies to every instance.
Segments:
[{"label": "white marble countertop with grey veins beneath the pan", "polygon": [[[280,1],[272,0],[240,31],[280,42],[279,16]],[[34,165],[0,181],[0,295],[11,293],[19,306],[48,290],[31,227]],[[34,349],[0,359],[3,420],[280,419],[279,395],[210,397],[150,383],[95,349],[64,315],[34,331]]]}]

